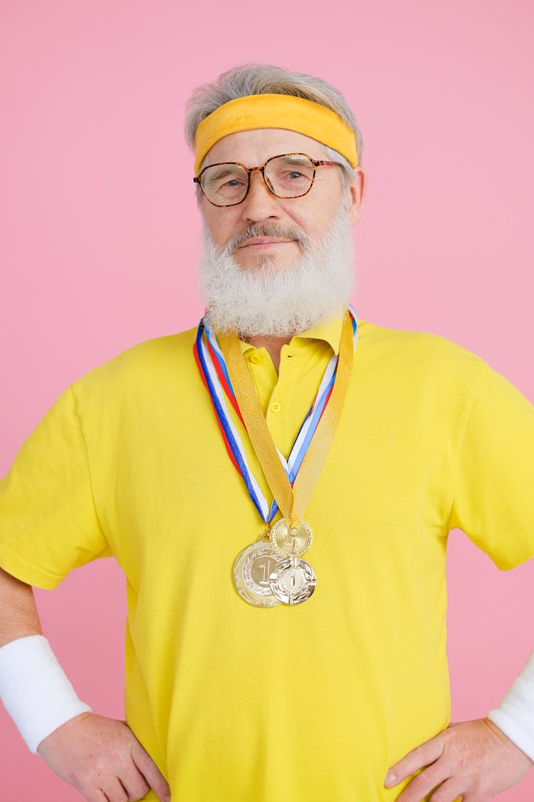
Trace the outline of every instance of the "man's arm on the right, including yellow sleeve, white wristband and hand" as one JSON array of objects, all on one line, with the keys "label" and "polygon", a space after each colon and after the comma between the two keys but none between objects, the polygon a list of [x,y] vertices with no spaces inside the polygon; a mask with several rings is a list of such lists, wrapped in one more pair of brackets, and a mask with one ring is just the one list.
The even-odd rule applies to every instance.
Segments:
[{"label": "man's arm on the right, including yellow sleeve, white wristband and hand", "polygon": [[[473,367],[478,387],[457,452],[447,529],[462,529],[500,569],[509,569],[534,553],[534,410],[484,363]],[[526,668],[512,688],[500,714],[451,724],[391,766],[388,788],[420,772],[399,792],[398,802],[419,802],[427,793],[432,802],[460,795],[465,802],[485,802],[516,784],[534,758],[534,671],[529,680]]]}]

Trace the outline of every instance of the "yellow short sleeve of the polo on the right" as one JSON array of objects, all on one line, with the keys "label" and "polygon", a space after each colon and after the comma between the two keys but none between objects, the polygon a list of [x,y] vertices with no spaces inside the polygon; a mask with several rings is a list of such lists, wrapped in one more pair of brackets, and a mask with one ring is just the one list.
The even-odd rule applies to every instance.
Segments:
[{"label": "yellow short sleeve of the polo on the right", "polygon": [[534,554],[534,407],[481,360],[477,367],[449,526],[509,569]]}]

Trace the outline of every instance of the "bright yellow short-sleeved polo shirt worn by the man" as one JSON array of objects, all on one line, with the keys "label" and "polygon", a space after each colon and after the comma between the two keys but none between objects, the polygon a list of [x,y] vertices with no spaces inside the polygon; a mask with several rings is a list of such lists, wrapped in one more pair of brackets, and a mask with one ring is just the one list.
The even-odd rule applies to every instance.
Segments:
[{"label": "bright yellow short-sleeved polo shirt worn by the man", "polygon": [[[279,376],[243,344],[286,454],[339,329],[294,338]],[[194,338],[143,342],[58,399],[0,484],[0,565],[53,588],[78,565],[117,559],[126,719],[175,802],[395,800],[387,768],[449,719],[448,531],[464,529],[500,568],[534,553],[532,406],[442,338],[360,323],[306,512],[315,593],[259,609],[231,569],[263,524]]]}]

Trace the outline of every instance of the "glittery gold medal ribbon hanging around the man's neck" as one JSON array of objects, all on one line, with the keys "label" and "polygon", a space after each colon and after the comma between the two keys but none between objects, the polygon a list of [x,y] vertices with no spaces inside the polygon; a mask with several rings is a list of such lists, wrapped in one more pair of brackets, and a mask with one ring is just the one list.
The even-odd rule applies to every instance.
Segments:
[{"label": "glittery gold medal ribbon hanging around the man's neck", "polygon": [[[262,408],[259,406],[258,396],[256,395],[247,363],[243,358],[237,334],[235,332],[219,334],[219,343],[227,367],[227,376],[239,407],[239,416],[247,429],[267,484],[271,488],[280,512],[290,522],[291,528],[298,526],[299,520],[301,520],[303,512],[311,499],[315,484],[319,480],[327,454],[330,451],[343,402],[347,395],[354,357],[351,316],[346,312],[343,318],[341,340],[339,342],[339,358],[336,360],[335,383],[329,391],[329,399],[325,399],[322,414],[315,427],[315,432],[312,433],[311,439],[307,444],[307,449],[303,454],[300,468],[292,486],[287,471],[280,460],[280,453],[275,446],[271,432],[267,428],[267,421],[263,415]],[[311,408],[311,413],[313,413],[314,407]],[[299,437],[297,437],[298,439]],[[264,518],[263,520],[266,519]],[[272,518],[270,517],[268,520],[272,520]]]}]

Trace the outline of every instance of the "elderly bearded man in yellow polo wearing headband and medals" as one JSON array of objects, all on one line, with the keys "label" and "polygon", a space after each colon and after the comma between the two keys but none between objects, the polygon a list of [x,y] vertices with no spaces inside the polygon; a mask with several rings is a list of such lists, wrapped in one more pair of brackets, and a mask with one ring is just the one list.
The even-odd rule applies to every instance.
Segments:
[{"label": "elderly bearded man in yellow polo wearing headband and medals", "polygon": [[[339,91],[239,67],[186,130],[207,315],[75,382],[3,480],[6,707],[88,802],[487,800],[532,766],[534,665],[448,726],[445,549],[534,553],[532,407],[348,306],[366,176]],[[30,588],[109,555],[127,725],[78,700]]]}]

